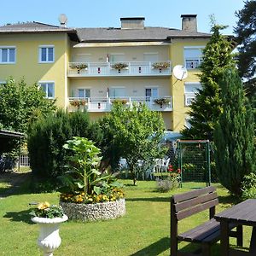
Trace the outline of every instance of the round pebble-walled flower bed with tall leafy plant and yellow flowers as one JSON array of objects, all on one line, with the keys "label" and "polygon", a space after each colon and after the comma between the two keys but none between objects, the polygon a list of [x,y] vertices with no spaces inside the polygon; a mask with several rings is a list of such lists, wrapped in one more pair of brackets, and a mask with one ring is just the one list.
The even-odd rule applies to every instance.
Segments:
[{"label": "round pebble-walled flower bed with tall leafy plant and yellow flowers", "polygon": [[123,216],[122,184],[108,170],[99,171],[101,150],[84,137],[73,137],[63,147],[70,157],[67,172],[60,177],[60,205],[68,218],[93,221]]}]

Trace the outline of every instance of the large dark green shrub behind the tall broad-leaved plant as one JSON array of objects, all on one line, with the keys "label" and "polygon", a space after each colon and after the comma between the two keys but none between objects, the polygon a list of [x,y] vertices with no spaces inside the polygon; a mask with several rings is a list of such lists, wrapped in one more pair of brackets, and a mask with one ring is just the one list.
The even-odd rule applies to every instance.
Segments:
[{"label": "large dark green shrub behind the tall broad-leaved plant", "polygon": [[56,177],[63,174],[67,157],[63,145],[73,136],[93,138],[98,140],[97,143],[101,140],[99,126],[90,123],[86,112],[66,113],[58,110],[35,122],[30,128],[27,142],[32,173],[50,183],[57,183]]}]

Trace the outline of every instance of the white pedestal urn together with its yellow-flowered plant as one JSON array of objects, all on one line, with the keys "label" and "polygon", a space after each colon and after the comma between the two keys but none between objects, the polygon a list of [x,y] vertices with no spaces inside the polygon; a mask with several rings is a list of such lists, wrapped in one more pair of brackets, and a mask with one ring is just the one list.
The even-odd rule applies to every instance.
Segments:
[{"label": "white pedestal urn together with its yellow-flowered plant", "polygon": [[38,207],[32,209],[32,222],[39,224],[40,234],[38,247],[44,251],[44,256],[53,255],[56,248],[61,245],[59,226],[67,221],[62,207],[50,205],[49,202],[39,203]]}]

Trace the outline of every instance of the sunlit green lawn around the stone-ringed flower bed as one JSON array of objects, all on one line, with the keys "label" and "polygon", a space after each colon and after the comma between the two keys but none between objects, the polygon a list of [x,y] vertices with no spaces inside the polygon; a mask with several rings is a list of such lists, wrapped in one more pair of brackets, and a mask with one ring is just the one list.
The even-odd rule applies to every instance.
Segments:
[{"label": "sunlit green lawn around the stone-ringed flower bed", "polygon": [[[97,223],[68,221],[61,224],[61,247],[55,256],[84,255],[170,255],[170,196],[191,188],[203,187],[204,183],[186,183],[182,189],[168,193],[155,191],[154,181],[139,181],[137,187],[123,180],[126,197],[124,217]],[[230,207],[235,198],[217,184],[220,205],[217,212]],[[27,183],[23,183],[19,195],[11,195],[0,201],[1,230],[0,255],[42,255],[38,249],[38,224],[33,224],[28,212],[31,201],[58,203],[58,193],[26,194]],[[207,219],[201,212],[182,221],[181,229],[188,230]],[[248,247],[250,232],[244,232],[244,244]],[[234,241],[231,241],[235,244]],[[189,250],[187,244],[181,244]],[[218,255],[219,245],[213,247]]]}]

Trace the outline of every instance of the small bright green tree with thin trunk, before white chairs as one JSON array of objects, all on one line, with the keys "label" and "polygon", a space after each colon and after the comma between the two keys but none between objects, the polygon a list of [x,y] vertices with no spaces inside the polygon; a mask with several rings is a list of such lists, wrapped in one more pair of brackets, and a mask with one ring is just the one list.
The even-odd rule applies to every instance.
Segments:
[{"label": "small bright green tree with thin trunk, before white chairs", "polygon": [[150,111],[145,105],[125,108],[116,103],[111,113],[100,121],[100,125],[107,139],[102,154],[115,162],[120,156],[125,157],[133,183],[136,184],[138,160],[148,161],[160,157],[159,143],[164,131],[160,114]]}]

